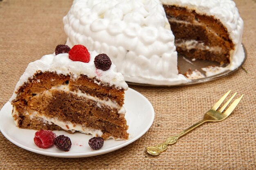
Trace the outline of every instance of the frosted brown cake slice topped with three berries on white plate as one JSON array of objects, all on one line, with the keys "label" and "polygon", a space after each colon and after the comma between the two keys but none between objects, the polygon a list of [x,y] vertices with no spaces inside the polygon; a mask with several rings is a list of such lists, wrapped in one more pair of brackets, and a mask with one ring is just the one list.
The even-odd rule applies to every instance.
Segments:
[{"label": "frosted brown cake slice topped with three berries on white plate", "polygon": [[29,63],[20,77],[9,100],[16,126],[128,139],[128,85],[110,58],[82,45],[59,45],[55,54]]}]

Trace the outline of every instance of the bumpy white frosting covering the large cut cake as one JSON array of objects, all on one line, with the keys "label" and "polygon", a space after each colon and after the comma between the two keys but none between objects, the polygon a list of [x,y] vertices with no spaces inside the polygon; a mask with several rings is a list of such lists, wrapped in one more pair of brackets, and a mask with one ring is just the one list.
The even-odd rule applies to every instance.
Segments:
[{"label": "bumpy white frosting covering the large cut cake", "polygon": [[[241,46],[243,20],[231,0],[161,0],[214,15],[235,44],[234,70],[244,58]],[[177,52],[164,8],[159,0],[74,0],[63,18],[67,45],[83,44],[106,53],[126,81],[175,85],[190,80],[177,71]],[[224,69],[223,69],[224,70]]]}]

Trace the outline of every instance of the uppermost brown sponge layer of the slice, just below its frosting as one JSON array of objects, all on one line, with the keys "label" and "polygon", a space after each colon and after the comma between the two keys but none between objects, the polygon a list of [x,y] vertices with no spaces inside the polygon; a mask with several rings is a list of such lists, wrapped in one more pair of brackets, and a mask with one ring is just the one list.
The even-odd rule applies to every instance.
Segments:
[{"label": "uppermost brown sponge layer of the slice, just below its frosting", "polygon": [[95,79],[89,79],[85,75],[80,75],[77,79],[72,79],[70,75],[62,75],[54,72],[37,72],[29,78],[25,84],[16,91],[16,100],[22,98],[20,102],[27,102],[38,93],[47,91],[53,86],[69,85],[70,91],[82,91],[87,95],[97,97],[101,100],[110,100],[120,107],[124,104],[124,89],[117,89],[113,86],[102,86]]}]

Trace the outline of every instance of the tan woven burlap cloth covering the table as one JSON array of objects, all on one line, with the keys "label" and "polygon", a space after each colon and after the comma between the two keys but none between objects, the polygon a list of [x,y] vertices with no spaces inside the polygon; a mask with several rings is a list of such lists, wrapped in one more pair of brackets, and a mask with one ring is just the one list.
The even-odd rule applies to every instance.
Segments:
[{"label": "tan woven burlap cloth covering the table", "polygon": [[[0,108],[11,97],[27,64],[65,43],[62,18],[72,0],[0,0]],[[235,73],[211,82],[177,87],[130,86],[155,109],[151,128],[132,144],[108,154],[56,158],[29,152],[0,133],[0,168],[13,169],[256,169],[256,1],[236,0],[245,29],[247,60]],[[199,121],[229,89],[245,94],[234,112],[206,123],[158,157],[145,146],[162,143]],[[33,139],[31,139],[33,140]]]}]

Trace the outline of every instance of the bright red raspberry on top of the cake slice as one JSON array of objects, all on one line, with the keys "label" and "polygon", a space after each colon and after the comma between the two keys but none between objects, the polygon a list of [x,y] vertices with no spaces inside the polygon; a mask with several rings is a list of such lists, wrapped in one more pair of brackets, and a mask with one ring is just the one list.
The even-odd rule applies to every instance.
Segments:
[{"label": "bright red raspberry on top of the cake slice", "polygon": [[77,62],[89,62],[90,53],[83,45],[74,45],[70,52],[68,53],[70,60]]}]

